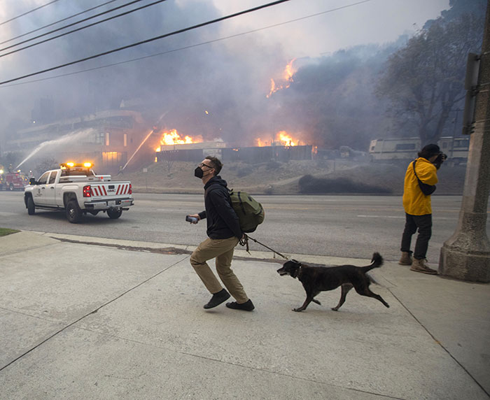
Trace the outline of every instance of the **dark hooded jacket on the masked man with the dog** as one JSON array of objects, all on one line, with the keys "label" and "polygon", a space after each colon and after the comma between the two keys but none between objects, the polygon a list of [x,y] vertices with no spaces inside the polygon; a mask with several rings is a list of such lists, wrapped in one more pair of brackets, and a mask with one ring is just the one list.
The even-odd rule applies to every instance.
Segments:
[{"label": "dark hooded jacket on the masked man with the dog", "polygon": [[204,185],[204,206],[199,213],[201,220],[207,218],[207,236],[211,239],[241,238],[240,224],[233,210],[226,180],[214,176]]}]

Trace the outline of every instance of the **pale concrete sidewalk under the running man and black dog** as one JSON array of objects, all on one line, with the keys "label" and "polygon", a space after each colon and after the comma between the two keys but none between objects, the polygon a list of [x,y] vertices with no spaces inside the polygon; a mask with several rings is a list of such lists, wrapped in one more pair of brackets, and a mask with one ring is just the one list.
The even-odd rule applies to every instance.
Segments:
[{"label": "pale concrete sidewalk under the running man and black dog", "polygon": [[[302,313],[271,253],[237,250],[255,304],[204,310],[186,246],[0,238],[0,399],[489,399],[490,285],[386,262]],[[288,255],[317,264],[366,259]],[[272,262],[271,262],[272,261]]]}]

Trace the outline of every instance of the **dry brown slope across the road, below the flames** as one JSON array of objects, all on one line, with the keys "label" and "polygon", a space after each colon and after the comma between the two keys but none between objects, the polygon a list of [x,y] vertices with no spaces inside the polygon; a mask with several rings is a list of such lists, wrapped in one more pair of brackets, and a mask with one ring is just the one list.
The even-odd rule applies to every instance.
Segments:
[{"label": "dry brown slope across the road, below the flames", "polygon": [[[194,177],[194,162],[155,163],[115,180],[131,180],[134,192],[202,193],[200,180]],[[228,187],[239,187],[251,194],[300,194],[300,178],[313,176],[315,185],[325,194],[393,194],[403,191],[405,164],[351,162],[344,159],[321,161],[267,162],[262,164],[225,163],[221,176]],[[438,172],[440,183],[436,194],[461,194],[465,166],[443,165]],[[339,183],[340,190],[335,187]],[[320,183],[318,185],[318,183]],[[367,189],[366,189],[367,187]],[[321,194],[321,193],[316,193]]]}]

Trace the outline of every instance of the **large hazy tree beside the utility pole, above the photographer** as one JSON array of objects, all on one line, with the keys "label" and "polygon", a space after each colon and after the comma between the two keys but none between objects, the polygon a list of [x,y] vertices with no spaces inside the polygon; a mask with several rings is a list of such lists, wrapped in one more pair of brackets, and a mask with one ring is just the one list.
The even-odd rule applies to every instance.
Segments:
[{"label": "large hazy tree beside the utility pole, above the photographer", "polygon": [[440,17],[388,58],[377,94],[391,101],[401,131],[416,132],[422,145],[437,142],[463,99],[466,59],[481,48],[483,25],[482,15]]}]

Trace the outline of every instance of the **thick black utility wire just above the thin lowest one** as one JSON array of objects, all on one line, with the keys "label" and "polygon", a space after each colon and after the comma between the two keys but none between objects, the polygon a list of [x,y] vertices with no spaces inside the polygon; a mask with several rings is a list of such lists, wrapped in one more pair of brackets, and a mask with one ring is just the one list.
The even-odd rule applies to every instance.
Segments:
[{"label": "thick black utility wire just above the thin lowest one", "polygon": [[[216,22],[221,22],[221,21],[224,21],[224,20],[229,20],[230,18],[237,17],[239,15],[253,13],[254,11],[261,10],[262,8],[276,6],[277,4],[280,4],[280,3],[286,3],[286,1],[290,1],[290,0],[277,0],[277,1],[272,1],[272,3],[262,4],[262,6],[248,8],[248,10],[239,11],[238,13],[234,13],[234,14],[230,14],[230,15],[225,15],[225,17],[219,17],[219,18],[216,18],[216,20],[202,22],[201,24],[193,25],[192,27],[187,27],[187,28],[179,29],[177,31],[170,32],[169,34],[155,36],[153,38],[146,39],[145,41],[141,41],[141,42],[137,42],[137,43],[132,43],[130,45],[125,45],[125,46],[123,46],[121,48],[116,48],[116,49],[113,49],[113,50],[108,50],[106,52],[102,52],[102,53],[99,53],[97,55],[92,55],[90,57],[85,57],[83,59],[78,59],[76,61],[67,62],[66,64],[62,64],[62,65],[58,65],[58,66],[53,66],[52,68],[43,69],[42,71],[37,71],[37,72],[34,72],[34,73],[29,73],[27,75],[20,76],[18,78],[4,80],[3,82],[0,82],[0,85],[3,85],[5,83],[10,83],[10,82],[15,82],[16,80],[20,80],[20,79],[24,79],[24,78],[29,78],[29,76],[39,75],[40,73],[45,73],[45,72],[48,72],[48,71],[54,71],[55,69],[60,69],[60,68],[63,68],[64,66],[78,64],[79,62],[84,62],[84,61],[87,61],[89,59],[94,59],[94,58],[97,58],[97,57],[102,57],[104,55],[109,55],[109,54],[111,54],[113,52],[118,52],[120,50],[126,50],[128,48],[133,48],[133,47],[135,47],[137,45],[142,45],[142,44],[145,44],[145,43],[150,43],[150,42],[157,41],[157,40],[162,39],[162,38],[167,38],[169,36],[173,36],[173,35],[176,35],[176,34],[181,34],[181,33],[186,32],[186,31],[190,31],[190,30],[197,29],[197,28],[200,28],[200,27],[205,27],[205,26],[207,26],[209,24],[215,24]],[[368,0],[365,0],[365,1],[368,1]]]}]

